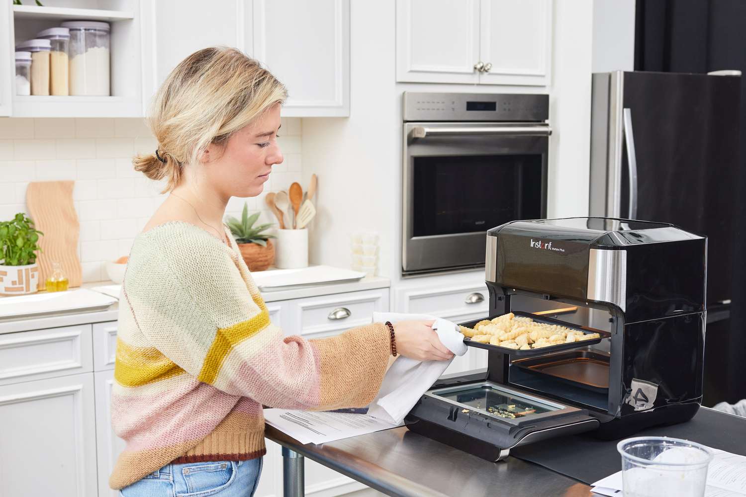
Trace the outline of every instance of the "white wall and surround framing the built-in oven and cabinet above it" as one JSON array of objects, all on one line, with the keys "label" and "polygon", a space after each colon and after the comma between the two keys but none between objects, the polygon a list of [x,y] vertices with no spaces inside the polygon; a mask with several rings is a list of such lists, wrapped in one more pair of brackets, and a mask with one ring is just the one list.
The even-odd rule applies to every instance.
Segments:
[{"label": "white wall and surround framing the built-in oven and cabinet above it", "polygon": [[310,260],[349,267],[349,234],[374,229],[379,273],[401,271],[401,93],[550,94],[548,215],[586,215],[590,147],[592,0],[555,0],[551,86],[396,83],[395,0],[351,4],[351,115],[304,118],[303,175],[319,174]]}]

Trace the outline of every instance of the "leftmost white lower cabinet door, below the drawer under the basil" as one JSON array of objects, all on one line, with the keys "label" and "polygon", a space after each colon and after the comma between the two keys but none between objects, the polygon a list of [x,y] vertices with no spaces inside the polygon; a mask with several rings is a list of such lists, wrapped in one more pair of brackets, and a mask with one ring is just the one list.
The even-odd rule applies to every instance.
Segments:
[{"label": "leftmost white lower cabinet door, below the drawer under the basil", "polygon": [[95,497],[93,373],[0,387],[0,497]]}]

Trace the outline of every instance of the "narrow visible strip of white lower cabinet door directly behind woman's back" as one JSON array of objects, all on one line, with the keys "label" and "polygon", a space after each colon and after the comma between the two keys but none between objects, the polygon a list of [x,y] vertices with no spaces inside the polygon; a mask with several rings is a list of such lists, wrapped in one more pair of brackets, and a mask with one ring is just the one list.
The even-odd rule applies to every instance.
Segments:
[{"label": "narrow visible strip of white lower cabinet door directly behind woman's back", "polygon": [[114,371],[93,373],[95,383],[95,444],[98,454],[98,497],[116,497],[117,490],[109,488],[109,475],[125,449],[125,441],[114,434],[111,428],[111,387]]}]

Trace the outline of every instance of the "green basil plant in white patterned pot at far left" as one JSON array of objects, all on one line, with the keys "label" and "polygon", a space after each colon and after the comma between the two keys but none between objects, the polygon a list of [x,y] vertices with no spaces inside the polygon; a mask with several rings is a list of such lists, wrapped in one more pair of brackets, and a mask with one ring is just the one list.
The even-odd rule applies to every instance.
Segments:
[{"label": "green basil plant in white patterned pot at far left", "polygon": [[0,295],[34,294],[39,289],[37,242],[43,232],[23,212],[0,221]]}]

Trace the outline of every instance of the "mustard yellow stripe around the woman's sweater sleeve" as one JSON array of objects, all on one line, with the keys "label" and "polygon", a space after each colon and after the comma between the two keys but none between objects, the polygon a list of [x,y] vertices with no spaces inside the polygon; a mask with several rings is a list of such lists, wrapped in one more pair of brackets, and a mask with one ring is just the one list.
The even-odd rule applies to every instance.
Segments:
[{"label": "mustard yellow stripe around the woman's sweater sleeve", "polygon": [[228,326],[228,328],[218,329],[215,340],[210,345],[210,350],[207,351],[207,356],[202,363],[202,370],[197,378],[200,382],[213,384],[228,352],[231,352],[231,349],[237,344],[256,335],[269,325],[269,311],[264,305],[264,300],[259,294],[252,294],[251,298],[261,309],[260,313],[250,320],[236,323],[233,326]]}]

